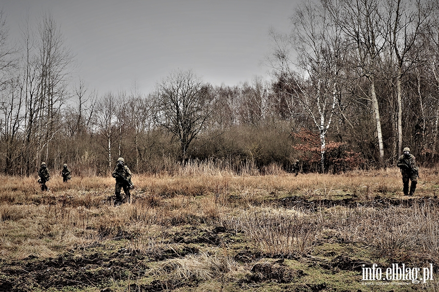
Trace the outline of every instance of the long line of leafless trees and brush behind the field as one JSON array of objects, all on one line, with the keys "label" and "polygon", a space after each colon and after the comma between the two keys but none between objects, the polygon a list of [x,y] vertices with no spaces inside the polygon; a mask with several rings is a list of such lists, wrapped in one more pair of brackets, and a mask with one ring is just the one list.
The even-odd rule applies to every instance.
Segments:
[{"label": "long line of leafless trees and brush behind the field", "polygon": [[[337,4],[337,5],[336,5]],[[73,53],[50,15],[0,23],[0,167],[40,162],[106,175],[119,156],[136,173],[206,164],[236,173],[337,173],[394,164],[405,146],[438,162],[439,3],[304,2],[291,32],[271,32],[272,79],[215,86],[175,71],[143,93],[98,95],[75,83]]]}]

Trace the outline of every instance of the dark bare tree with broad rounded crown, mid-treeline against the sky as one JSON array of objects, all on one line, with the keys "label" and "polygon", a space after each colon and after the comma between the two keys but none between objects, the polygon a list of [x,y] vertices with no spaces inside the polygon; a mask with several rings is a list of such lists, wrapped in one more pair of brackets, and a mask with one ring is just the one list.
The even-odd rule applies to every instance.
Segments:
[{"label": "dark bare tree with broad rounded crown, mid-treeline against the sky", "polygon": [[215,103],[210,87],[192,71],[176,71],[160,83],[153,95],[154,119],[180,144],[180,159],[212,113]]}]

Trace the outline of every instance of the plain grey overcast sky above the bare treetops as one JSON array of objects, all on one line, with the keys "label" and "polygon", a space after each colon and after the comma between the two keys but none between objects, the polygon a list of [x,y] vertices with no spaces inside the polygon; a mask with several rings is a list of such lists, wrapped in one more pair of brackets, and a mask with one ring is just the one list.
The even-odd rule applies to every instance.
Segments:
[{"label": "plain grey overcast sky above the bare treetops", "polygon": [[100,94],[143,93],[176,69],[204,81],[237,85],[270,52],[270,28],[286,33],[300,0],[0,0],[11,39],[20,23],[50,12],[76,55],[78,77]]}]

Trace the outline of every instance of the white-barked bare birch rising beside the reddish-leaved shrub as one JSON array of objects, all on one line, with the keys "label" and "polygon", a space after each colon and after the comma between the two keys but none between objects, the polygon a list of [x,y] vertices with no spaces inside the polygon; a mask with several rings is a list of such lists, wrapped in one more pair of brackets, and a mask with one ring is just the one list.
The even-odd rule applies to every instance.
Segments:
[{"label": "white-barked bare birch rising beside the reddish-leaved shrub", "polygon": [[[341,30],[331,22],[319,3],[307,2],[297,9],[290,36],[272,34],[276,49],[278,80],[292,99],[311,118],[319,131],[320,167],[325,171],[326,134],[339,100],[342,61],[346,55]],[[298,56],[291,59],[290,52]],[[297,72],[294,71],[296,68]],[[286,103],[290,111],[294,102]]]}]

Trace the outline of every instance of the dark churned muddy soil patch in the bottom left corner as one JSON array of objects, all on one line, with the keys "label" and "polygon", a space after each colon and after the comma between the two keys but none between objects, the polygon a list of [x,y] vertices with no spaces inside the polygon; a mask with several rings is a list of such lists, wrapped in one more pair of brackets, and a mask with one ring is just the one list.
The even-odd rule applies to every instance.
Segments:
[{"label": "dark churned muddy soil patch in the bottom left corner", "polygon": [[140,276],[139,271],[146,269],[142,260],[135,255],[123,256],[119,253],[87,257],[74,257],[66,253],[41,260],[28,257],[13,261],[2,269],[5,277],[0,281],[0,291],[22,292],[89,285],[99,287],[110,284],[115,275],[123,280],[128,278],[127,271],[131,276]]}]

